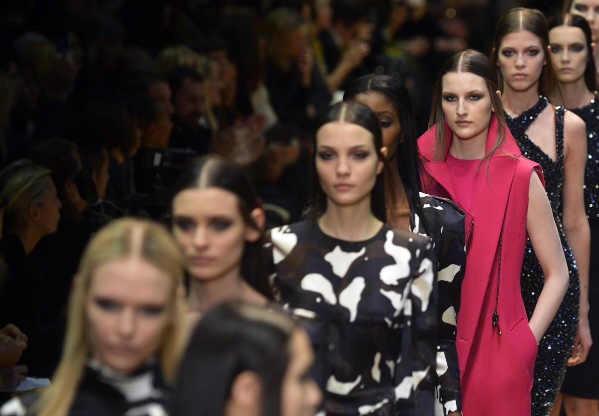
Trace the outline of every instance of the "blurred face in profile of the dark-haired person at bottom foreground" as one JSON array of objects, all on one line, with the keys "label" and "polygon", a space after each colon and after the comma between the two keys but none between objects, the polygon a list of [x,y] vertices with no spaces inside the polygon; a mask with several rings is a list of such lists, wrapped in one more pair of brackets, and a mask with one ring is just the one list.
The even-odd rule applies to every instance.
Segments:
[{"label": "blurred face in profile of the dark-haired person at bottom foreground", "polygon": [[281,416],[314,416],[322,393],[309,375],[314,354],[304,330],[294,331],[289,352],[289,366],[281,386]]}]

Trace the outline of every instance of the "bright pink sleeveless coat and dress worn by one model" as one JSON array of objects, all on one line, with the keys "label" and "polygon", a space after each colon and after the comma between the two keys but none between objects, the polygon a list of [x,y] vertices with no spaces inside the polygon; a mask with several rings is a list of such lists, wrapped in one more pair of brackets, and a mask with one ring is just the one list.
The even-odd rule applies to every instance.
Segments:
[{"label": "bright pink sleeveless coat and dress worn by one model", "polygon": [[[497,128],[493,115],[487,151],[495,143]],[[447,125],[444,129],[447,158],[452,132]],[[434,141],[434,127],[418,140],[425,191],[450,198],[462,207],[466,212],[466,235],[471,234],[456,339],[464,416],[530,416],[537,343],[522,302],[520,270],[527,239],[530,176],[537,170],[542,180],[540,167],[520,155],[515,140],[506,131],[506,140],[489,160],[488,168],[483,162],[473,181],[472,203],[464,204],[458,190],[465,184],[445,161],[432,161]],[[492,327],[503,222],[499,325]]]}]

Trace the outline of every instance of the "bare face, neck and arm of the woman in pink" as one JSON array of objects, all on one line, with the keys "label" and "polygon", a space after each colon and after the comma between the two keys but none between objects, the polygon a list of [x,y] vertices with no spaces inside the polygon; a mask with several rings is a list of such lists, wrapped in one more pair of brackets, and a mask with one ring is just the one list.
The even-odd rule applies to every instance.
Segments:
[{"label": "bare face, neck and arm of the woman in pink", "polygon": [[[450,153],[459,159],[482,159],[494,93],[488,91],[482,77],[471,73],[447,73],[442,83],[443,113],[453,131]],[[480,122],[485,120],[486,126]],[[536,172],[531,174],[528,190],[527,231],[545,276],[539,301],[528,322],[539,342],[567,290],[568,267],[549,200]]]}]

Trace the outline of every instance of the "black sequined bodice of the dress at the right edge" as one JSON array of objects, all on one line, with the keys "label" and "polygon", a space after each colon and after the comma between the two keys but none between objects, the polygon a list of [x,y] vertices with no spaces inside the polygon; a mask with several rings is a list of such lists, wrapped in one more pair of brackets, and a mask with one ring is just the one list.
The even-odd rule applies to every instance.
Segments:
[{"label": "black sequined bodice of the dress at the right edge", "polygon": [[586,123],[585,208],[589,219],[599,219],[599,100],[571,110]]}]

